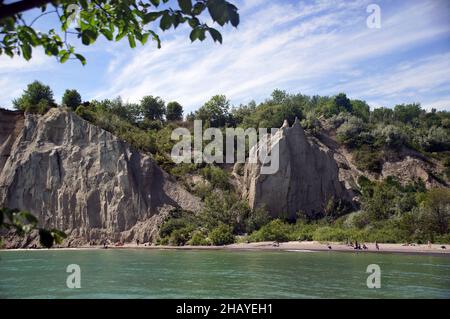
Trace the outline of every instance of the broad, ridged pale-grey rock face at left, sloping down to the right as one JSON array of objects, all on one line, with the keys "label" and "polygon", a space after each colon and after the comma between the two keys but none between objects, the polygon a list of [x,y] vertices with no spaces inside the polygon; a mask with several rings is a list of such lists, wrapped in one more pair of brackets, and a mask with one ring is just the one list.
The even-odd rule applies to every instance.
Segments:
[{"label": "broad, ridged pale-grey rock face at left, sloping down to the right", "polygon": [[0,206],[30,211],[74,243],[146,242],[169,210],[200,208],[149,155],[70,111],[0,119]]}]

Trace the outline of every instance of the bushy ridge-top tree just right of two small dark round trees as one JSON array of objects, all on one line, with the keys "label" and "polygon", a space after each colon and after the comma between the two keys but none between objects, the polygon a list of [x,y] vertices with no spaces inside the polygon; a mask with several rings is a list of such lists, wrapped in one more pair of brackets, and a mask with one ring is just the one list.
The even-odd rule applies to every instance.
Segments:
[{"label": "bushy ridge-top tree just right of two small dark round trees", "polygon": [[230,101],[225,95],[215,95],[195,114],[196,119],[207,122],[211,127],[223,127],[229,119]]}]

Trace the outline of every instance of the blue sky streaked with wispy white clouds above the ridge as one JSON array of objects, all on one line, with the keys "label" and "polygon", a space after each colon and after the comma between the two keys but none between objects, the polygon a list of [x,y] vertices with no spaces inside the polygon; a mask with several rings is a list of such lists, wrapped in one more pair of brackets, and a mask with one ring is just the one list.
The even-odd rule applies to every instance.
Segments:
[{"label": "blue sky streaked with wispy white clouds above the ridge", "polygon": [[[238,28],[216,28],[223,44],[191,43],[187,26],[159,31],[131,49],[126,40],[83,46],[87,58],[58,63],[39,50],[31,61],[0,56],[0,107],[26,85],[50,85],[57,102],[65,89],[83,100],[138,102],[145,95],[176,100],[185,114],[215,94],[233,105],[262,102],[274,89],[365,100],[372,108],[421,103],[450,111],[450,1],[448,0],[229,0],[239,8]],[[380,28],[369,28],[369,4],[380,8]],[[28,12],[33,18],[37,13]],[[52,18],[36,27],[54,27]]]}]

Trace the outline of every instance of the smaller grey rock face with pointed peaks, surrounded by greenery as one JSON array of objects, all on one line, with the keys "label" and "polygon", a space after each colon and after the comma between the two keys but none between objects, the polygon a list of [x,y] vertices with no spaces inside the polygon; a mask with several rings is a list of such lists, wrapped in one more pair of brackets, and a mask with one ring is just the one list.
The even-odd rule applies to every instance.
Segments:
[{"label": "smaller grey rock face with pointed peaks, surrounded by greenery", "polygon": [[[252,208],[265,206],[273,217],[294,217],[299,211],[309,215],[322,212],[330,200],[352,201],[353,193],[339,180],[333,152],[307,138],[298,120],[287,122],[263,143],[279,147],[279,169],[261,174],[261,164],[246,163],[244,197]],[[259,151],[262,143],[250,152]]]}]

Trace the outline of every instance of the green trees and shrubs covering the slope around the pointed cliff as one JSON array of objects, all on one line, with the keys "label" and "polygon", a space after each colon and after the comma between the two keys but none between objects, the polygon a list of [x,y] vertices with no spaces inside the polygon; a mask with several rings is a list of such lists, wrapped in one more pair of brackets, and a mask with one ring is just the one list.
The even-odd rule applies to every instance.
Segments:
[{"label": "green trees and shrubs covering the slope around the pointed cliff", "polygon": [[[14,105],[29,112],[45,112],[54,106],[53,94],[49,93],[46,86],[33,83]],[[66,92],[63,104],[77,100],[76,93]],[[36,107],[39,103],[46,106]],[[76,113],[153,154],[159,165],[204,201],[197,215],[172,212],[161,226],[161,244],[227,244],[235,240],[234,236],[248,241],[450,242],[448,188],[427,190],[421,180],[405,184],[395,178],[374,182],[362,177],[356,190],[360,193],[356,212],[348,214],[345,207],[333,201],[315,216],[299,212],[296,220],[273,220],[264,208],[251,210],[240,198],[229,167],[175,165],[169,156],[174,145],[172,130],[182,126],[192,131],[194,119],[202,119],[204,129],[225,129],[280,127],[285,119],[292,124],[298,117],[311,135],[320,138],[323,133],[335,134],[362,171],[380,173],[385,161],[401,159],[402,151],[408,149],[438,162],[442,169],[434,177],[446,185],[450,178],[450,112],[427,112],[418,104],[370,110],[364,101],[351,100],[345,94],[310,97],[275,90],[259,105],[250,102],[239,107],[231,107],[223,95],[214,96],[184,121],[179,103],[166,105],[153,96],[136,104],[120,98],[83,102]],[[200,176],[202,182],[190,182],[191,176]]]}]

